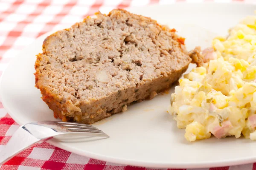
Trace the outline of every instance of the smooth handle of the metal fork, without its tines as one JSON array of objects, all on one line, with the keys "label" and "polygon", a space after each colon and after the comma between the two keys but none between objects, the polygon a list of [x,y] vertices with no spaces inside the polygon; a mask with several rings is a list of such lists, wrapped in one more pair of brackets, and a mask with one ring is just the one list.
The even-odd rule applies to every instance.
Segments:
[{"label": "smooth handle of the metal fork, without its tines", "polygon": [[[50,139],[50,138],[49,138]],[[20,153],[21,151],[35,146],[48,139],[40,140],[32,136],[31,133],[27,132],[23,128],[18,128],[13,134],[9,142],[0,152],[0,164],[4,164],[6,161]]]}]

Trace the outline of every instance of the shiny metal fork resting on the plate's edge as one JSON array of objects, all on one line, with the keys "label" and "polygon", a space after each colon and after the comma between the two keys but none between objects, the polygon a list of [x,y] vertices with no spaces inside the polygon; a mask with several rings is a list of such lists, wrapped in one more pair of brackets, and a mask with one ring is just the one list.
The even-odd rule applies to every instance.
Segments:
[{"label": "shiny metal fork resting on the plate's edge", "polygon": [[[53,137],[66,136],[70,134],[80,137],[100,136],[109,138],[107,134],[92,125],[84,125],[73,122],[38,121],[25,124],[17,129],[9,142],[0,152],[0,164],[5,163],[17,153],[45,142]],[[71,138],[73,139],[73,137]]]}]

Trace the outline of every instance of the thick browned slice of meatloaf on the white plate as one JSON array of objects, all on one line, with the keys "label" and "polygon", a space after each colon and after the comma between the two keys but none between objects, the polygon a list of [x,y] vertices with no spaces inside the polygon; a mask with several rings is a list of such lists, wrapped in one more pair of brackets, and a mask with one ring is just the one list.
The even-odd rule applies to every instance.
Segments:
[{"label": "thick browned slice of meatloaf on the white plate", "polygon": [[191,62],[183,43],[151,18],[97,13],[44,40],[35,84],[55,118],[91,124],[169,88]]}]

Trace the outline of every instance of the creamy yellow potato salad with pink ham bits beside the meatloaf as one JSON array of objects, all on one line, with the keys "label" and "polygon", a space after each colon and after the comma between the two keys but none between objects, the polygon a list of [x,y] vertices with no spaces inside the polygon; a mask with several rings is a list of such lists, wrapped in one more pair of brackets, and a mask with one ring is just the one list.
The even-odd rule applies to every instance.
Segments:
[{"label": "creamy yellow potato salad with pink ham bits beside the meatloaf", "polygon": [[168,112],[177,127],[190,142],[212,135],[256,140],[256,16],[216,37],[200,55],[204,64],[184,75],[171,96]]}]

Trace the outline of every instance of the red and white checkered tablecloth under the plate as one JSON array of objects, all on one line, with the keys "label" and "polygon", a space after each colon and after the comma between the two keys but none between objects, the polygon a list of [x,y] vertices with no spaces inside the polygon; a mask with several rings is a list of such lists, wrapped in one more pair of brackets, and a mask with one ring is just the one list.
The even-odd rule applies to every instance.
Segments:
[{"label": "red and white checkered tablecloth under the plate", "polygon": [[[70,27],[96,11],[112,8],[146,6],[180,2],[256,3],[256,0],[0,0],[0,75],[12,57],[40,35]],[[0,102],[0,150],[19,125],[8,115]],[[90,159],[62,150],[48,143],[39,144],[0,166],[1,170],[149,170]],[[191,170],[191,169],[190,169]],[[201,169],[203,170],[203,169]],[[256,170],[256,163],[204,170]]]}]

